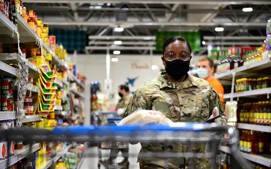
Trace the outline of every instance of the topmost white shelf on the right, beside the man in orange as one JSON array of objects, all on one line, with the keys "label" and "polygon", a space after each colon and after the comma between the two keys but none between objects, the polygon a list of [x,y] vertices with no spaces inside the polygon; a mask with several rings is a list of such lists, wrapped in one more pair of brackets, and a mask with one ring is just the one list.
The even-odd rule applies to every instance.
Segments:
[{"label": "topmost white shelf on the right, beside the man in orange", "polygon": [[247,73],[253,73],[253,72],[255,73],[255,71],[257,70],[261,70],[268,67],[271,67],[270,58],[263,59],[261,61],[252,63],[250,65],[240,66],[238,68],[232,69],[224,73],[215,74],[214,78],[229,80],[229,79],[232,79],[233,72],[236,73],[235,76],[242,76],[242,75],[247,75]]}]

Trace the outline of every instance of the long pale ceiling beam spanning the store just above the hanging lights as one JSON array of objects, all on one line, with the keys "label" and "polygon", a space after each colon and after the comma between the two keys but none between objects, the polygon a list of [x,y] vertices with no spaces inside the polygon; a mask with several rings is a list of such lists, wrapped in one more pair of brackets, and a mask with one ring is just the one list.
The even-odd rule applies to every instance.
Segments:
[{"label": "long pale ceiling beam spanning the store just above the hanging lights", "polygon": [[266,22],[245,22],[245,23],[233,23],[233,22],[208,22],[208,23],[194,23],[194,22],[47,22],[48,25],[60,25],[60,26],[266,26]]}]

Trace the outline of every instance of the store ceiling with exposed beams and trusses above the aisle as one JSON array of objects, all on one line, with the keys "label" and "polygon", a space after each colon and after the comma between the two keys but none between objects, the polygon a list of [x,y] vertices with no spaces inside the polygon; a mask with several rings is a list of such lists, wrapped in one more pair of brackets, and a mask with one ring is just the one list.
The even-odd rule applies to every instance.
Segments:
[{"label": "store ceiling with exposed beams and trusses above the aisle", "polygon": [[[156,31],[199,31],[202,40],[204,36],[233,36],[222,40],[209,37],[203,50],[196,53],[200,55],[206,54],[208,44],[260,46],[271,18],[270,0],[24,0],[24,6],[34,10],[50,29],[85,30],[90,46],[85,53],[105,53],[106,46],[121,39],[122,47],[110,48],[122,48],[127,54],[149,54],[155,46]],[[253,11],[243,12],[243,7],[252,7]],[[117,26],[124,31],[113,31]],[[216,32],[218,26],[224,31]]]}]

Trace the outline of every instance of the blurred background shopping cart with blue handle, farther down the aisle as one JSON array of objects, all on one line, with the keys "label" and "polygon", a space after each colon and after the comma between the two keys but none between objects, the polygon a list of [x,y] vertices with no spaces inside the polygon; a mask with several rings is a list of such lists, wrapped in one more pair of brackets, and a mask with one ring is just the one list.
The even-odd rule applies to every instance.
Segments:
[{"label": "blurred background shopping cart with blue handle, farther down the aisle", "polygon": [[[104,125],[116,126],[115,121],[120,121],[121,118],[117,112],[102,112],[102,121]],[[98,168],[103,165],[105,168],[117,169],[128,168],[128,142],[101,142],[98,143]],[[119,153],[122,152],[122,153]],[[126,160],[124,160],[126,158]]]}]

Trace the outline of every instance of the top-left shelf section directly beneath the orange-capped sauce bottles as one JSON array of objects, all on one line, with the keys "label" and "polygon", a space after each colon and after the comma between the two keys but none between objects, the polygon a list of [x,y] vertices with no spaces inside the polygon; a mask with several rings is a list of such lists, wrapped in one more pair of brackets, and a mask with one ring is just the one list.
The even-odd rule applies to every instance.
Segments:
[{"label": "top-left shelf section directly beneath the orange-capped sauce bottles", "polygon": [[36,42],[38,35],[36,32],[24,21],[21,15],[17,15],[18,31],[20,35],[20,43]]}]

